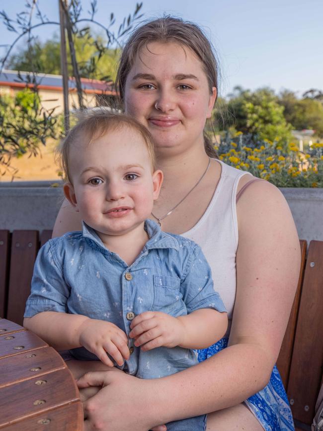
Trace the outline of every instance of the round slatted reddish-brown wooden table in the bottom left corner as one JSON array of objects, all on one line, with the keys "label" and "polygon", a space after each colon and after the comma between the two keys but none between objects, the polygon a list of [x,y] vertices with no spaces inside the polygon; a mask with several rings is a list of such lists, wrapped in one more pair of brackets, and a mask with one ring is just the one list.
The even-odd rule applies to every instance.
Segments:
[{"label": "round slatted reddish-brown wooden table in the bottom left corner", "polygon": [[0,319],[0,430],[81,431],[79,390],[55,349]]}]

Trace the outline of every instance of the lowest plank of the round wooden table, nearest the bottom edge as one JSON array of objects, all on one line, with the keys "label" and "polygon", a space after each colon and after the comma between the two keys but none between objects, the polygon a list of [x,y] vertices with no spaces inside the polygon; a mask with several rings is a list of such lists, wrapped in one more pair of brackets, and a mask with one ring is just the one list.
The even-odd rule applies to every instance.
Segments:
[{"label": "lowest plank of the round wooden table, nearest the bottom edge", "polygon": [[81,431],[83,429],[83,409],[81,402],[75,402],[15,424],[1,428],[1,431]]}]

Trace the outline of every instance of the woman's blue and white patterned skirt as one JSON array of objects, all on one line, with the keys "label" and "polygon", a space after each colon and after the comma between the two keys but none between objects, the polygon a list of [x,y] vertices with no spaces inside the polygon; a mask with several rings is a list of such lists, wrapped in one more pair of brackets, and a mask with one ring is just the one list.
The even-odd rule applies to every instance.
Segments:
[{"label": "woman's blue and white patterned skirt", "polygon": [[[227,346],[228,339],[223,338],[208,348],[197,350],[199,362],[213,356]],[[268,385],[245,400],[244,403],[258,419],[264,430],[295,431],[292,412],[276,365],[272,370]]]}]

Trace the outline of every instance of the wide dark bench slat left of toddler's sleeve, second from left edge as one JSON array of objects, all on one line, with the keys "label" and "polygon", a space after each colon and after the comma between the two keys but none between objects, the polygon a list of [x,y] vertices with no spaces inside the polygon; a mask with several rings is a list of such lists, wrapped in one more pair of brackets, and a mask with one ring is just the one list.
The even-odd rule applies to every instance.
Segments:
[{"label": "wide dark bench slat left of toddler's sleeve, second from left edge", "polygon": [[38,231],[13,231],[7,319],[19,325],[22,325],[38,249]]}]

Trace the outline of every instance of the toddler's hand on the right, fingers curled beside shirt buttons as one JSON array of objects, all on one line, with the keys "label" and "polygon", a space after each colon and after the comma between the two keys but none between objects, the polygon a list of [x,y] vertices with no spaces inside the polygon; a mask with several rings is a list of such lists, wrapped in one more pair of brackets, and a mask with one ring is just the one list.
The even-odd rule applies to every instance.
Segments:
[{"label": "toddler's hand on the right, fingers curled beside shirt buttons", "polygon": [[146,311],[134,318],[130,325],[129,337],[134,338],[135,345],[142,350],[165,346],[175,347],[184,340],[184,326],[179,319],[160,311]]}]

